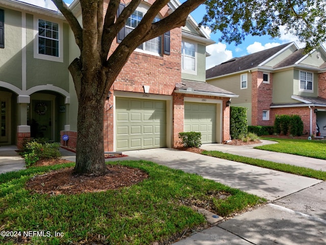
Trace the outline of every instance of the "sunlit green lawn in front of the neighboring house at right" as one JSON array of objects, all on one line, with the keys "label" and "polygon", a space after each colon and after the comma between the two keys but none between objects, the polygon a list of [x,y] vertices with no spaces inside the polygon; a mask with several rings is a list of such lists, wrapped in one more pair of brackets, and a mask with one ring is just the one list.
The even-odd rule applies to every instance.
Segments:
[{"label": "sunlit green lawn in front of the neighboring house at right", "polygon": [[279,139],[265,137],[262,139],[273,140],[279,143],[256,146],[255,149],[326,159],[326,141],[324,140]]}]

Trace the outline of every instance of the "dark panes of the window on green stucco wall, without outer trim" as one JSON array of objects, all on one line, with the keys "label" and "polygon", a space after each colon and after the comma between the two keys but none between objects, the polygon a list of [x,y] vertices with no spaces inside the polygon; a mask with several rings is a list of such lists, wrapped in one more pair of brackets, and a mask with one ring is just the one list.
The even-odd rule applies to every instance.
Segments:
[{"label": "dark panes of the window on green stucco wall, without outer trim", "polygon": [[39,54],[59,57],[59,24],[39,19]]}]

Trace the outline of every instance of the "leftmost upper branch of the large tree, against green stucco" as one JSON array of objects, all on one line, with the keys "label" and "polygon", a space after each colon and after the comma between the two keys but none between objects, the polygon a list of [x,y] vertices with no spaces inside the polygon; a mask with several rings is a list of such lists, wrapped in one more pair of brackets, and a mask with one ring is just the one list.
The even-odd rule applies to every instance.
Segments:
[{"label": "leftmost upper branch of the large tree, against green stucco", "polygon": [[57,8],[61,11],[61,13],[65,16],[66,20],[69,23],[69,26],[75,36],[75,42],[79,47],[79,50],[83,50],[83,29],[80,27],[80,24],[76,17],[73,15],[68,6],[62,2],[62,0],[51,0],[53,4],[57,6]]}]

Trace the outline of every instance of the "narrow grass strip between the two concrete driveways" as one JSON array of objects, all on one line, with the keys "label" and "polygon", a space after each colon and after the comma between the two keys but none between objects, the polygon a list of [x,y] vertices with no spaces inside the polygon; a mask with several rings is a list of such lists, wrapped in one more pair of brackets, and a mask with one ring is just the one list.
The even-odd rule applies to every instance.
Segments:
[{"label": "narrow grass strip between the two concrete driveways", "polygon": [[278,171],[282,171],[285,173],[290,173],[294,175],[300,175],[305,177],[310,177],[318,180],[326,180],[326,172],[322,170],[315,170],[308,167],[300,167],[300,166],[294,166],[290,164],[285,163],[277,163],[277,162],[271,162],[256,158],[250,158],[250,157],[243,157],[238,155],[233,155],[229,153],[219,152],[219,151],[203,151],[203,155],[211,156],[211,157],[217,157],[222,159],[227,159],[230,161],[235,162],[242,162],[258,167],[264,167],[269,169],[274,169]]}]

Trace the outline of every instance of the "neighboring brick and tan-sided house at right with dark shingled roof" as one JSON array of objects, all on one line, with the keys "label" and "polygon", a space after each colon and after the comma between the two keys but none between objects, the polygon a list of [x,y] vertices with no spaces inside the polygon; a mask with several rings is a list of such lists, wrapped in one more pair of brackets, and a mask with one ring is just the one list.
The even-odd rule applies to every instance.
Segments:
[{"label": "neighboring brick and tan-sided house at right with dark shingled roof", "polygon": [[[248,124],[273,126],[276,115],[300,115],[304,134],[326,136],[326,50],[304,54],[286,43],[233,58],[206,70],[209,84],[239,97],[232,106],[248,108]],[[317,126],[318,125],[318,126]]]}]

